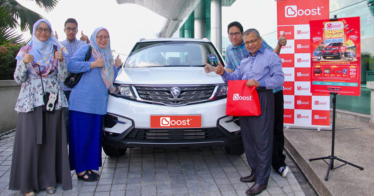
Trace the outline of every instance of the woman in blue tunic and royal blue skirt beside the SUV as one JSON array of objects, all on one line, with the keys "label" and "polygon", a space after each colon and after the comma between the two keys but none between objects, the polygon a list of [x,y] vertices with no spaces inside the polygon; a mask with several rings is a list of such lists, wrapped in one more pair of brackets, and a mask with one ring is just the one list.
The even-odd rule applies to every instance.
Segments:
[{"label": "woman in blue tunic and royal blue skirt beside the SUV", "polygon": [[[89,47],[91,58],[84,62]],[[114,91],[113,81],[120,65],[119,55],[113,59],[109,32],[104,27],[95,29],[90,45],[79,47],[67,65],[72,73],[83,72],[69,98],[69,159],[70,169],[75,170],[78,179],[87,182],[99,178],[92,170],[101,167],[102,127],[108,91]]]}]

